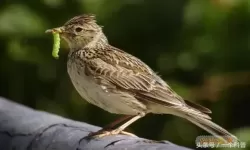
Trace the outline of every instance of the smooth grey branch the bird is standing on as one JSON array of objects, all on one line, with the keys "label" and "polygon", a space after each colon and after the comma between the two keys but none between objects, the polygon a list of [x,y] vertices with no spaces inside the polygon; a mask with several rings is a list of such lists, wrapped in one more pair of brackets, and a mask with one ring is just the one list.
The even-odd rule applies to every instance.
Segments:
[{"label": "smooth grey branch the bird is standing on", "polygon": [[125,135],[85,138],[99,129],[0,98],[0,150],[188,149]]}]

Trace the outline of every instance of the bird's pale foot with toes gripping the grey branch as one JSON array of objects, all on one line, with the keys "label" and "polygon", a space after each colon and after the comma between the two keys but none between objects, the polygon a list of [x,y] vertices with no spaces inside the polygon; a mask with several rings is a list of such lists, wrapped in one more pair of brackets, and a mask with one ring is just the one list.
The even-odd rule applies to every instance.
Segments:
[{"label": "bird's pale foot with toes gripping the grey branch", "polygon": [[114,129],[114,130],[110,130],[110,131],[99,130],[97,132],[90,133],[88,136],[96,137],[96,138],[102,138],[102,137],[105,137],[105,136],[118,135],[118,134],[137,137],[136,135],[134,135],[132,133],[121,131],[119,129]]}]

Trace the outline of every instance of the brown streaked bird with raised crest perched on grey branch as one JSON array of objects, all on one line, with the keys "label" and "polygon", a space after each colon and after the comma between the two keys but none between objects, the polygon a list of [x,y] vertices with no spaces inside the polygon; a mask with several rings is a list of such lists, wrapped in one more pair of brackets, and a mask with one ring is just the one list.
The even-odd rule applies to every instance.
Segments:
[{"label": "brown streaked bird with raised crest perched on grey branch", "polygon": [[68,74],[82,98],[110,113],[125,115],[107,128],[127,120],[124,124],[114,130],[104,128],[97,136],[129,134],[123,132],[126,127],[154,113],[172,114],[215,136],[237,139],[211,121],[209,109],[184,100],[140,59],[110,45],[94,15],[76,16],[46,32],[57,32],[68,43]]}]

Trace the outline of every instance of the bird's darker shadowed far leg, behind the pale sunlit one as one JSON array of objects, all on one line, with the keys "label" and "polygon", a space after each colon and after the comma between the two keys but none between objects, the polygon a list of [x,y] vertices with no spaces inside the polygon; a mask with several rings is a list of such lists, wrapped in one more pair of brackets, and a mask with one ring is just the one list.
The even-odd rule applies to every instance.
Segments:
[{"label": "bird's darker shadowed far leg, behind the pale sunlit one", "polygon": [[97,131],[97,132],[93,132],[93,133],[90,133],[89,136],[95,136],[95,135],[98,135],[98,134],[102,134],[103,132],[105,131],[109,131],[109,130],[112,130],[112,128],[114,126],[116,126],[117,124],[125,121],[125,120],[128,120],[128,119],[131,119],[133,118],[134,116],[122,116],[118,119],[116,119],[114,122],[111,122],[110,124],[106,125],[105,127],[103,127],[101,130]]}]

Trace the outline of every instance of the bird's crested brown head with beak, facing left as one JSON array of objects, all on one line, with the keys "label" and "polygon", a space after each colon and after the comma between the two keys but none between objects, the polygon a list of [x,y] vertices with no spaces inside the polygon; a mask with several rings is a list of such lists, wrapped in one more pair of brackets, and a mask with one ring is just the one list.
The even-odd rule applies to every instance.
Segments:
[{"label": "bird's crested brown head with beak, facing left", "polygon": [[95,47],[107,44],[102,28],[96,23],[95,16],[84,14],[71,18],[63,26],[49,29],[46,33],[59,33],[71,49]]}]

